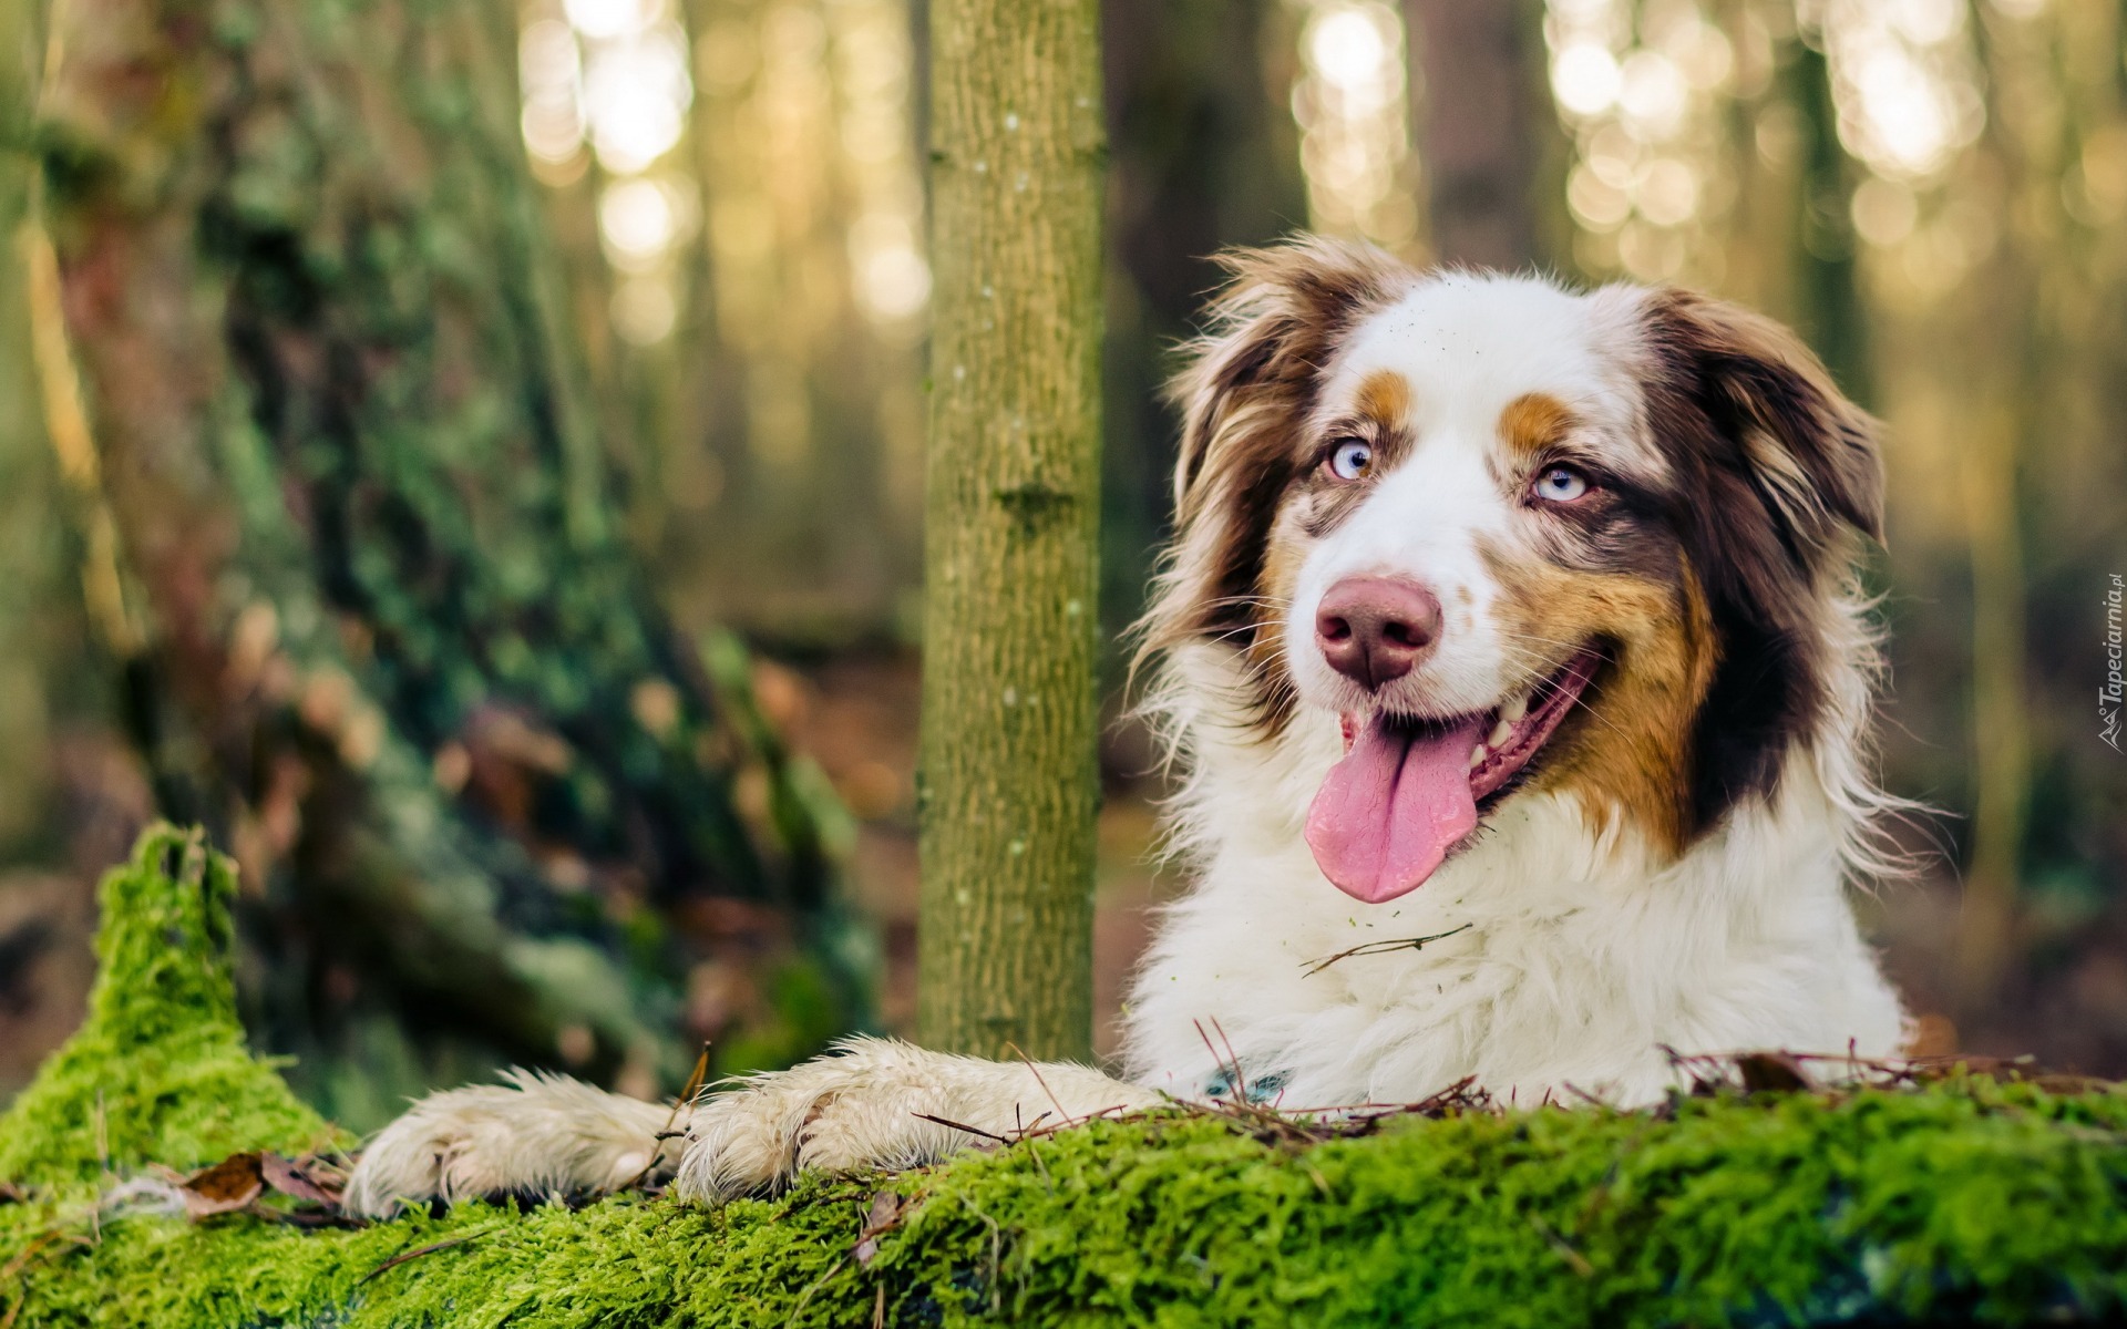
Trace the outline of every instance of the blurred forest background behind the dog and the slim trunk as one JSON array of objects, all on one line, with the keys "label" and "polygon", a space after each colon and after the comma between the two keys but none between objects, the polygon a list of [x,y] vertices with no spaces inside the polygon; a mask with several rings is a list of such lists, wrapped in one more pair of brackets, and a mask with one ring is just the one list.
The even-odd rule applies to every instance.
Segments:
[{"label": "blurred forest background behind the dog and the slim trunk", "polygon": [[[912,1029],[925,47],[906,0],[0,13],[0,1099],[157,814],[355,1129]],[[1115,0],[1104,51],[1100,1046],[1178,889],[1115,646],[1157,387],[1208,255],[1317,228],[1804,332],[1889,425],[1931,808],[1870,931],[1923,1050],[2127,1074],[2127,6]]]}]

